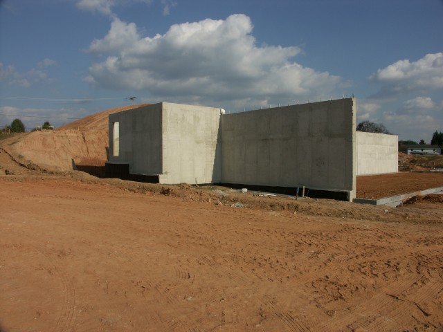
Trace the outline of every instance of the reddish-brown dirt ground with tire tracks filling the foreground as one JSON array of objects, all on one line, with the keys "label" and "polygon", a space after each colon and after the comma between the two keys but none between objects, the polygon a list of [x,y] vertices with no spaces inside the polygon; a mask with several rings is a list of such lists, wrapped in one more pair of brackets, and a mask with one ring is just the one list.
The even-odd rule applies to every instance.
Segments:
[{"label": "reddish-brown dirt ground with tire tracks filling the foreground", "polygon": [[442,331],[441,195],[386,208],[86,174],[0,187],[1,332]]}]

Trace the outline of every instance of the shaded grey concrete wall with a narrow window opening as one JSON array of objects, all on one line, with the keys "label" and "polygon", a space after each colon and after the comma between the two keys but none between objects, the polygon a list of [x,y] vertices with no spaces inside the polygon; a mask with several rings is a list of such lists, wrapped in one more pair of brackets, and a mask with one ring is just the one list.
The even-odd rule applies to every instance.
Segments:
[{"label": "shaded grey concrete wall with a narrow window opening", "polygon": [[[114,149],[114,123],[118,122],[120,147]],[[153,104],[109,115],[109,163],[129,163],[132,174],[161,174],[162,110]],[[118,156],[114,156],[118,151]]]}]

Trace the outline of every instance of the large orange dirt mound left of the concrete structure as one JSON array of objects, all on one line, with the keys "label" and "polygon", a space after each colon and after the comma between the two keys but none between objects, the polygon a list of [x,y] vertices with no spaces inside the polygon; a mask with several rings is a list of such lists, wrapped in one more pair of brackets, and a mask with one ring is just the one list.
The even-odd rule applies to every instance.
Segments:
[{"label": "large orange dirt mound left of the concrete structure", "polygon": [[97,167],[104,168],[107,160],[109,114],[139,106],[143,105],[109,109],[55,130],[14,135],[0,145],[12,160],[38,165],[47,172],[95,167],[99,173]]}]

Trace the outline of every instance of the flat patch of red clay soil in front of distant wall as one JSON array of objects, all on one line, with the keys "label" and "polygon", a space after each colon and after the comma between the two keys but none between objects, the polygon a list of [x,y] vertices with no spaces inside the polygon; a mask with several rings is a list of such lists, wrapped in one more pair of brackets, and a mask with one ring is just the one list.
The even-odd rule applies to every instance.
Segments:
[{"label": "flat patch of red clay soil in front of distant wall", "polygon": [[399,172],[374,176],[357,176],[356,197],[381,199],[383,197],[419,192],[443,187],[443,172]]}]

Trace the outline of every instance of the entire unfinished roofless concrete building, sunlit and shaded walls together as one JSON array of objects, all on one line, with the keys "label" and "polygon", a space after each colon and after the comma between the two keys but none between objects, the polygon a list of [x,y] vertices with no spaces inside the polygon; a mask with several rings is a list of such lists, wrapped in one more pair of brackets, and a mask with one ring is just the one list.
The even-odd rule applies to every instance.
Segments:
[{"label": "entire unfinished roofless concrete building, sunlit and shaded walls together", "polygon": [[[355,122],[353,98],[232,114],[152,104],[109,116],[107,175],[168,184],[305,186],[352,200],[357,174],[397,172],[397,136],[356,133]],[[359,151],[370,157],[359,160]]]}]

